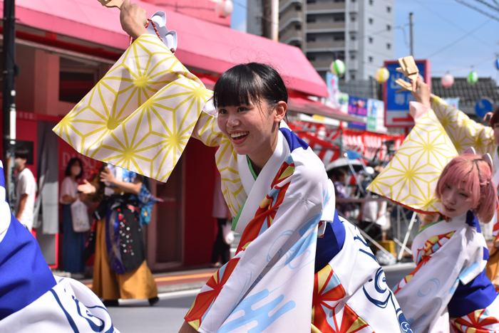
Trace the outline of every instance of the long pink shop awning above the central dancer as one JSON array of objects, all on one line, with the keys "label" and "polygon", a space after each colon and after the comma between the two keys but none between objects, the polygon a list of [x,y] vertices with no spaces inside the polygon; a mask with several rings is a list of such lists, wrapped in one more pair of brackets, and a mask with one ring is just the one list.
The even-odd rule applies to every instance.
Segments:
[{"label": "long pink shop awning above the central dancer", "polygon": [[[175,56],[187,68],[220,75],[237,63],[258,61],[273,65],[289,89],[306,95],[327,95],[326,83],[299,48],[142,1],[133,2],[146,9],[149,16],[155,11],[165,11],[168,28],[179,36]],[[19,24],[43,31],[123,50],[128,47],[118,9],[104,8],[97,0],[16,0],[16,18]]]}]

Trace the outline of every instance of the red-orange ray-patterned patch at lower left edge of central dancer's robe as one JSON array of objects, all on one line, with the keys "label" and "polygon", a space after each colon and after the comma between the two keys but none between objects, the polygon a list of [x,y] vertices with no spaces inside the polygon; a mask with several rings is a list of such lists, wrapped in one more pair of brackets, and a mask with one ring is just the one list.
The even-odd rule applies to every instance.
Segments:
[{"label": "red-orange ray-patterned patch at lower left edge of central dancer's robe", "polygon": [[188,317],[189,322],[195,324],[197,328],[201,326],[202,317],[217,299],[225,285],[225,282],[229,279],[230,274],[232,274],[232,271],[236,267],[239,260],[240,258],[232,258],[226,265],[222,266],[220,270],[217,270],[217,272],[210,277],[210,280],[206,282],[207,287],[212,289],[200,292],[196,296],[194,303],[192,303],[192,306],[185,317]]}]

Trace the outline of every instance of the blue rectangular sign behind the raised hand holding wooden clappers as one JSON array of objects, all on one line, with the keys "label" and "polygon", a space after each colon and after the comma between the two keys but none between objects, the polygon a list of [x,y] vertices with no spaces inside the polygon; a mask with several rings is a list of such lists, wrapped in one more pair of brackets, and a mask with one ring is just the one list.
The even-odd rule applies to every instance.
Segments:
[{"label": "blue rectangular sign behind the raised hand holding wooden clappers", "polygon": [[[430,86],[431,89],[431,74],[430,60],[416,60],[419,75],[423,81]],[[386,127],[413,127],[414,120],[409,113],[409,102],[414,100],[410,91],[401,91],[401,87],[395,83],[399,78],[409,82],[402,73],[397,72],[400,67],[398,61],[385,61],[384,66],[390,72],[390,78],[384,83],[384,102],[385,102],[385,126]]]}]

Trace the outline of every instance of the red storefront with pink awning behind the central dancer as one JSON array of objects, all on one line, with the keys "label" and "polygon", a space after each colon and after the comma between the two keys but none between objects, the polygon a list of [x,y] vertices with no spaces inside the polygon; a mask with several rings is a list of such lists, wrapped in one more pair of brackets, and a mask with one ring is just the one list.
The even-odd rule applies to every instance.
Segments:
[{"label": "red storefront with pink awning behind the central dancer", "polygon": [[[150,4],[153,0],[135,2],[149,15],[166,12],[168,28],[179,36],[175,56],[207,88],[232,65],[259,61],[274,65],[283,75],[292,96],[290,110],[353,120],[307,99],[326,96],[326,84],[299,48],[231,30],[230,19],[217,18],[207,10],[215,6],[208,0],[181,1],[176,12],[171,6]],[[37,176],[41,123],[57,122],[66,115],[128,47],[129,38],[120,29],[118,9],[106,9],[97,0],[17,0],[16,17],[16,63],[21,68],[16,80],[17,136],[33,142],[30,168]],[[58,178],[62,179],[68,159],[77,153],[60,139],[53,149],[57,149]],[[147,229],[148,263],[153,270],[209,262],[216,232],[211,216],[214,154],[214,148],[192,139],[168,183],[153,181],[153,191],[165,200],[153,208]],[[86,171],[94,163],[86,159]],[[41,233],[37,237],[48,263],[56,266],[58,235],[47,236],[48,240]]]}]

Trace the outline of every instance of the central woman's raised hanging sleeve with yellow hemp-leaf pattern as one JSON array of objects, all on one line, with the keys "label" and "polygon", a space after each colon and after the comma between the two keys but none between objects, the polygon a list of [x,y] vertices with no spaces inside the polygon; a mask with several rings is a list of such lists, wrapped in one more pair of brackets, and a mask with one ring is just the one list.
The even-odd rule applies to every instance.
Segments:
[{"label": "central woman's raised hanging sleeve with yellow hemp-leaf pattern", "polygon": [[83,155],[167,181],[211,96],[142,35],[53,131]]}]

